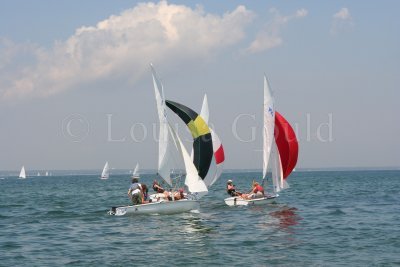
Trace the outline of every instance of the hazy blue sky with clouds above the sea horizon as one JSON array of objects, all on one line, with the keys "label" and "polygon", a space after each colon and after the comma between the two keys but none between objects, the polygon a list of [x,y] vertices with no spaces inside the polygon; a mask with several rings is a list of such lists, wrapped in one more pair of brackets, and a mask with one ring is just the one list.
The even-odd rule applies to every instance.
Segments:
[{"label": "hazy blue sky with clouds above the sea horizon", "polygon": [[[400,167],[398,1],[22,1],[0,8],[0,170],[156,169],[149,64],[226,169],[262,168],[263,75],[297,168]],[[190,135],[174,124],[185,145]]]}]

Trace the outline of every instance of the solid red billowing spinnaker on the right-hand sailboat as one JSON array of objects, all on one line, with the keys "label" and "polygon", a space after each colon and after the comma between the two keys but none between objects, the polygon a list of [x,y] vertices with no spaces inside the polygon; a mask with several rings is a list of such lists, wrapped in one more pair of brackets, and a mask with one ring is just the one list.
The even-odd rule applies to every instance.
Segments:
[{"label": "solid red billowing spinnaker on the right-hand sailboat", "polygon": [[275,142],[281,158],[283,179],[293,171],[299,154],[299,144],[292,126],[279,112],[275,111]]}]

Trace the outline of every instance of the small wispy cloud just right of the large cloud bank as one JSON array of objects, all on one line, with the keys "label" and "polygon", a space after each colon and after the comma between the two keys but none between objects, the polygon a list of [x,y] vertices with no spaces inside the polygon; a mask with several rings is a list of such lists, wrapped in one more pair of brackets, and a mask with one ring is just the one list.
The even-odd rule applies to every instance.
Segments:
[{"label": "small wispy cloud just right of the large cloud bank", "polygon": [[247,51],[257,53],[280,46],[283,43],[280,36],[282,27],[293,19],[307,16],[308,11],[302,8],[297,10],[294,15],[289,16],[282,16],[276,9],[271,9],[270,13],[273,14],[272,20],[257,34],[256,39],[250,44]]}]

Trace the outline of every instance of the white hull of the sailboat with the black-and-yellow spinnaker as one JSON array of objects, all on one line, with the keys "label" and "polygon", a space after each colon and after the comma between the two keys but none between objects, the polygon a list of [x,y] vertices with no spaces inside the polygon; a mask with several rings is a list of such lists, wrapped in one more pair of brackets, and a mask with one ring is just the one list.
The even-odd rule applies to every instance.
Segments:
[{"label": "white hull of the sailboat with the black-and-yellow spinnaker", "polygon": [[133,206],[112,207],[110,215],[123,216],[129,214],[174,214],[198,210],[198,200],[182,199],[177,201],[152,202]]}]

